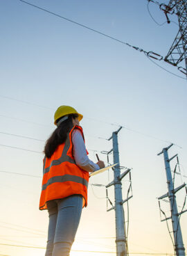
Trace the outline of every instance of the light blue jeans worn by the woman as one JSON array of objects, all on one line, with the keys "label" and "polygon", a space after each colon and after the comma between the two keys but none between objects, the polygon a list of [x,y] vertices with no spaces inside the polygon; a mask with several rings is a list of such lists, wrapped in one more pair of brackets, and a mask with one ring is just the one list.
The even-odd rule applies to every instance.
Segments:
[{"label": "light blue jeans worn by the woman", "polygon": [[45,256],[69,256],[82,213],[82,195],[47,202],[48,241]]}]

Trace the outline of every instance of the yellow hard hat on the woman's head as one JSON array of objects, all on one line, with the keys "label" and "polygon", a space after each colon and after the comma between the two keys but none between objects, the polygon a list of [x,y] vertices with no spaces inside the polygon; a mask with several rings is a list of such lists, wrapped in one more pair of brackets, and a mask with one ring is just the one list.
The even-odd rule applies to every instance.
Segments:
[{"label": "yellow hard hat on the woman's head", "polygon": [[57,108],[57,110],[55,111],[55,115],[54,115],[54,124],[57,125],[56,121],[58,118],[62,118],[62,116],[64,115],[69,115],[69,114],[78,114],[78,120],[82,120],[83,115],[81,115],[80,113],[78,113],[78,111],[76,111],[72,106],[60,106],[59,108]]}]

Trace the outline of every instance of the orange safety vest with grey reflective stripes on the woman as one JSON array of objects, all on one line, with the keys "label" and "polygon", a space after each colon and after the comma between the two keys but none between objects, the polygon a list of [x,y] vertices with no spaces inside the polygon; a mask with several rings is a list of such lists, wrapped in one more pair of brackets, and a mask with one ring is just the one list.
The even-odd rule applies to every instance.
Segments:
[{"label": "orange safety vest with grey reflective stripes on the woman", "polygon": [[82,208],[87,207],[89,173],[75,163],[72,143],[74,129],[78,129],[84,139],[82,127],[75,125],[65,143],[60,144],[50,158],[44,157],[40,210],[47,209],[46,202],[49,200],[66,198],[74,194],[82,195]]}]

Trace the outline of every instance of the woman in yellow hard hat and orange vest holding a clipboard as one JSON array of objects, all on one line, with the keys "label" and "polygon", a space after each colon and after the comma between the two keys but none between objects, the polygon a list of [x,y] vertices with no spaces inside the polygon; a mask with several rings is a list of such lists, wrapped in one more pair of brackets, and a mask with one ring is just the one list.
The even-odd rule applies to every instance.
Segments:
[{"label": "woman in yellow hard hat and orange vest holding a clipboard", "polygon": [[82,115],[71,106],[55,111],[57,128],[44,147],[42,193],[39,209],[48,210],[48,241],[45,256],[68,256],[87,207],[89,172],[105,167],[87,157]]}]

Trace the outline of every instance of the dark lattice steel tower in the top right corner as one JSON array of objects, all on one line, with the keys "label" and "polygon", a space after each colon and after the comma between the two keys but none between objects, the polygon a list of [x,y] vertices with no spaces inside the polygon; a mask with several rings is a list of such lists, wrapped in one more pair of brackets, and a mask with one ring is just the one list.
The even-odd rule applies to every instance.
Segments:
[{"label": "dark lattice steel tower in the top right corner", "polygon": [[179,31],[164,61],[174,66],[178,66],[181,61],[185,61],[186,70],[183,67],[178,67],[181,72],[187,75],[187,0],[170,0],[165,8],[166,14],[177,14]]}]

